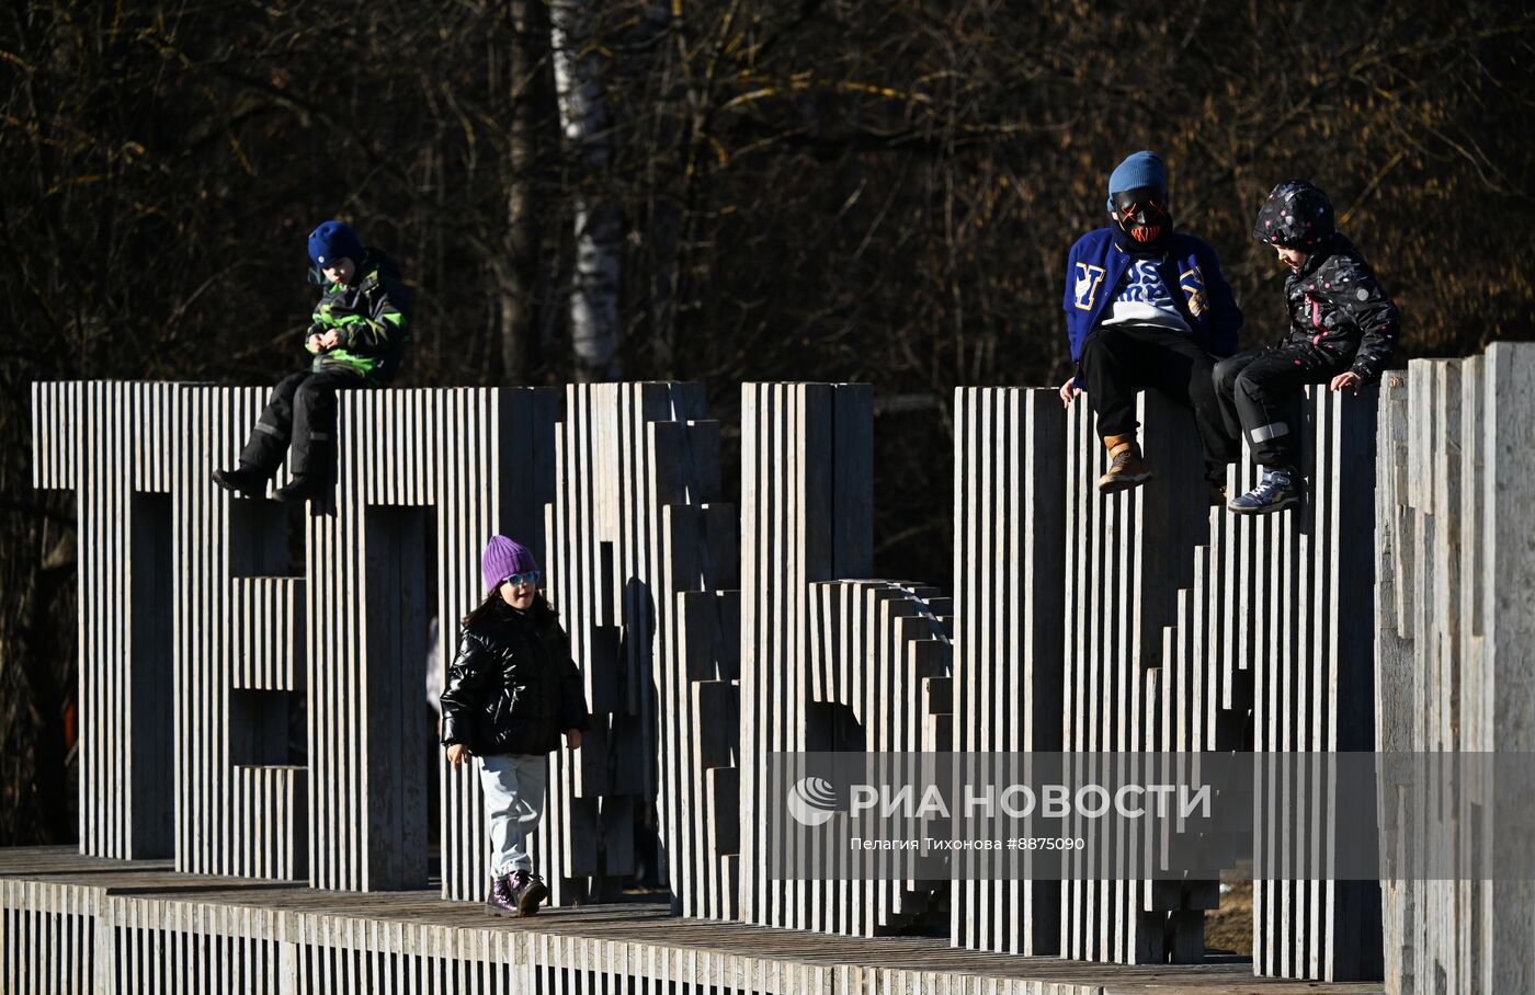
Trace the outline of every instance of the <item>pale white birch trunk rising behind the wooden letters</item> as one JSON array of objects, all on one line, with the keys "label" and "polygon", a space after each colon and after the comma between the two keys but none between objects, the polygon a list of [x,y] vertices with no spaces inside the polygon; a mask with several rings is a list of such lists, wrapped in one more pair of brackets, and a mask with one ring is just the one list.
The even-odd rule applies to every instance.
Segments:
[{"label": "pale white birch trunk rising behind the wooden letters", "polygon": [[583,382],[623,376],[619,357],[623,222],[617,204],[591,193],[591,179],[603,176],[612,161],[612,129],[588,15],[588,0],[550,3],[560,126],[583,173],[579,186],[585,187],[574,198],[576,271],[569,313],[576,379]]}]

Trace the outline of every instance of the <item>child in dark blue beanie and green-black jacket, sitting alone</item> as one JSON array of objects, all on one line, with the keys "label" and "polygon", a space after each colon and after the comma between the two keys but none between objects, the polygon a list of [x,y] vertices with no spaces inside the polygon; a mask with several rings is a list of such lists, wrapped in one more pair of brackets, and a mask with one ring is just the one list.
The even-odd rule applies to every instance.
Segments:
[{"label": "child in dark blue beanie and green-black jacket, sitting alone", "polygon": [[276,495],[284,501],[319,497],[335,468],[336,391],[387,383],[410,340],[410,294],[393,259],[365,248],[344,221],[327,221],[310,233],[309,258],[312,279],[325,287],[304,333],[313,359],[309,369],[278,382],[239,452],[239,466],[213,472],[213,483],[226,491],[264,494],[292,442],[293,481]]}]

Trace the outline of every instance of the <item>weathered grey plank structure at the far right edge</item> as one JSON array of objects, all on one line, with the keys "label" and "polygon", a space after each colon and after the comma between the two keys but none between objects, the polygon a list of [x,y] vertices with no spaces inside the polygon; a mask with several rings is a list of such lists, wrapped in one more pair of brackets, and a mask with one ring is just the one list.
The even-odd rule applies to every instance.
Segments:
[{"label": "weathered grey plank structure at the far right edge", "polygon": [[[1377,744],[1386,754],[1535,751],[1535,345],[1414,360],[1382,392]],[[1408,770],[1412,770],[1411,767]],[[1467,880],[1383,883],[1392,993],[1535,990],[1535,885],[1500,880],[1529,826],[1490,779],[1421,797],[1382,785],[1382,846],[1406,872],[1448,846]],[[1432,869],[1432,868],[1431,868]]]}]

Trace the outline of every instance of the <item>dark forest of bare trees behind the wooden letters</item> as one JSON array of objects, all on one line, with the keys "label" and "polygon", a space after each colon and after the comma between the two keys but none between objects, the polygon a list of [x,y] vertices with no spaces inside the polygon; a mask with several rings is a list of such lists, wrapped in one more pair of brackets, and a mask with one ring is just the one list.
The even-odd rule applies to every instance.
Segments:
[{"label": "dark forest of bare trees behind the wooden letters", "polygon": [[1130,152],[1243,346],[1283,328],[1249,228],[1296,176],[1401,307],[1398,363],[1530,337],[1529,3],[1147,9],[6,5],[0,846],[75,837],[74,504],[32,489],[29,385],[273,383],[325,218],[416,294],[401,385],[686,379],[732,426],[743,380],[873,383],[875,567],[941,586],[953,388],[1067,376],[1065,253]]}]

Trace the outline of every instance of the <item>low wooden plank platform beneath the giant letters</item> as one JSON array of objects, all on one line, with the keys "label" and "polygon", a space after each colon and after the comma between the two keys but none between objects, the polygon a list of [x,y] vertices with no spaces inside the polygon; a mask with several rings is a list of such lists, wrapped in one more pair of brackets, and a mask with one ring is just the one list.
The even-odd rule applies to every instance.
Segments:
[{"label": "low wooden plank platform beneath the giant letters", "polygon": [[[491,981],[474,983],[476,967],[442,972],[441,984],[419,990],[763,990],[795,992],[1027,992],[1041,995],[1130,995],[1165,992],[1382,992],[1380,984],[1314,984],[1254,978],[1251,964],[1228,961],[1203,966],[1116,966],[1065,961],[1053,957],[1010,957],[950,947],[923,937],[827,937],[810,932],[675,918],[654,903],[548,909],[536,918],[503,920],[479,905],[445,901],[437,892],[335,892],[302,885],[249,878],[175,874],[170,862],[124,862],[81,857],[69,848],[0,849],[0,981],[6,990],[186,990],[198,989],[204,966],[161,970],[129,957],[123,931],[146,929],[157,940],[141,949],[152,957],[167,951],[218,949],[226,937],[229,957],[253,944],[273,949],[261,963],[272,984],[252,984],[246,967],[243,990],[401,990],[405,981],[379,983],[379,958],[418,958],[434,963],[474,961],[490,969]],[[68,908],[66,908],[68,906]],[[26,926],[31,915],[34,926]],[[38,917],[95,917],[111,920],[81,937],[117,947],[109,964],[86,961],[74,975],[92,984],[68,984],[49,977],[48,963],[34,949],[40,941],[60,946],[58,926],[40,929]],[[115,940],[114,937],[115,931]],[[26,935],[23,935],[26,934]],[[167,940],[170,934],[196,943]],[[209,938],[213,946],[209,947]],[[201,944],[201,946],[200,946]],[[244,944],[244,947],[241,946]],[[68,947],[64,943],[60,949]],[[163,947],[163,949],[161,949]],[[309,947],[299,952],[298,947]],[[315,949],[324,947],[321,954]],[[336,960],[336,951],[342,952]],[[68,951],[66,951],[68,954]],[[75,952],[78,958],[78,951]],[[341,961],[356,958],[353,974]],[[97,954],[101,961],[101,954]],[[393,961],[390,961],[393,963]],[[241,961],[244,964],[244,961]],[[367,966],[373,964],[373,974]],[[154,967],[154,969],[150,969]],[[223,967],[229,970],[227,964]],[[28,974],[31,970],[31,974]],[[64,970],[64,967],[60,967]],[[507,978],[496,983],[496,970]],[[333,972],[333,974],[332,974]],[[399,966],[385,967],[404,977]],[[239,974],[239,970],[236,970]],[[430,974],[430,972],[428,972]],[[371,983],[370,983],[371,977]],[[150,984],[150,978],[161,984]],[[454,980],[457,978],[457,980]],[[517,978],[523,978],[519,981]],[[207,978],[206,978],[207,980]],[[259,981],[261,978],[256,978]],[[593,984],[593,981],[600,981]],[[531,983],[530,987],[523,984]],[[127,984],[127,989],[124,989]],[[414,983],[410,990],[418,990]]]}]

